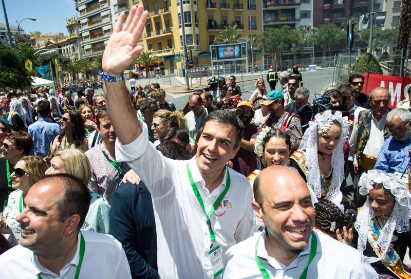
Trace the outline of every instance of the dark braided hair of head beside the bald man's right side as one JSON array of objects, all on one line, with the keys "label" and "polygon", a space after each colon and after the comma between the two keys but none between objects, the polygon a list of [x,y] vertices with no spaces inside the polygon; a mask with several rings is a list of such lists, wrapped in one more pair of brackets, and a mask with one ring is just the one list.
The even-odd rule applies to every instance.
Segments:
[{"label": "dark braided hair of head beside the bald man's right side", "polygon": [[327,234],[335,234],[338,229],[342,231],[343,227],[347,230],[352,228],[356,221],[357,211],[346,197],[343,197],[341,204],[344,206],[344,212],[335,203],[325,198],[316,203],[315,227]]}]

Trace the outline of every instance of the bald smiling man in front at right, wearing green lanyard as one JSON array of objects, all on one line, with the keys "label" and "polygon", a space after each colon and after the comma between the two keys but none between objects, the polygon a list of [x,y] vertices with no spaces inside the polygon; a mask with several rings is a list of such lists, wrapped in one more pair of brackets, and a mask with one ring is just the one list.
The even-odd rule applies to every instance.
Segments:
[{"label": "bald smiling man in front at right, wearing green lanyard", "polygon": [[[231,247],[223,279],[378,278],[354,248],[312,230],[314,207],[304,179],[284,166],[270,166],[254,181],[252,202],[266,230]],[[309,261],[310,259],[310,261]]]}]

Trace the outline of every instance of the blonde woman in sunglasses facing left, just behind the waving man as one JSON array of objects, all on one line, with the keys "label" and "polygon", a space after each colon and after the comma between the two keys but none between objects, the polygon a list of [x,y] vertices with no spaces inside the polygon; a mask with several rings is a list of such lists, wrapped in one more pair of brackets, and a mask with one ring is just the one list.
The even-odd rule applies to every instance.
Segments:
[{"label": "blonde woman in sunglasses facing left, just behind the waving man", "polygon": [[182,128],[185,129],[185,119],[180,111],[170,111],[167,109],[160,109],[156,111],[151,123],[151,129],[153,136],[156,139],[154,146],[160,144],[160,137],[166,129],[169,128]]}]

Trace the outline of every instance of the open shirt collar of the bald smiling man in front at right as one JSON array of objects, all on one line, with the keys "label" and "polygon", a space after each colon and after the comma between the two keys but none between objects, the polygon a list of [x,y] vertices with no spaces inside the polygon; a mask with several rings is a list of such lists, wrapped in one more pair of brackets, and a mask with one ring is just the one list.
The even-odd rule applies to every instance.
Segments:
[{"label": "open shirt collar of the bald smiling man in front at right", "polygon": [[[265,239],[266,239],[266,235],[267,235],[266,230],[267,229],[265,229],[263,232],[261,232],[261,236],[260,236],[260,239],[258,241],[258,246],[257,246],[257,256],[259,258],[264,259],[273,268],[286,270],[286,269],[298,267],[298,263],[300,263],[300,258],[302,256],[310,254],[312,235],[310,236],[310,240],[308,241],[307,247],[301,250],[300,254],[298,254],[298,257],[296,257],[294,259],[294,261],[291,262],[291,264],[289,264],[288,266],[285,266],[284,264],[278,262],[275,258],[269,257],[269,255],[267,253],[267,250],[266,250],[266,246],[265,246]],[[317,236],[317,238],[318,238],[318,236]],[[320,252],[321,252],[321,245],[317,245],[316,254],[320,253]]]}]

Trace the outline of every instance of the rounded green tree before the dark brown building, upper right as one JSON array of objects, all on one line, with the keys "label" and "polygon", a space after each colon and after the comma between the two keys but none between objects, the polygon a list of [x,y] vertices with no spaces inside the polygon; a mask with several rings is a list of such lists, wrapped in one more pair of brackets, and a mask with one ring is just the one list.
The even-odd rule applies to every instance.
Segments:
[{"label": "rounded green tree before the dark brown building, upper right", "polygon": [[333,23],[320,25],[312,34],[312,41],[315,46],[321,47],[331,55],[331,48],[345,43],[346,32]]}]

